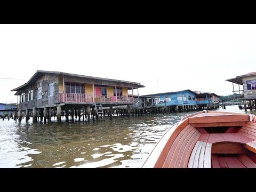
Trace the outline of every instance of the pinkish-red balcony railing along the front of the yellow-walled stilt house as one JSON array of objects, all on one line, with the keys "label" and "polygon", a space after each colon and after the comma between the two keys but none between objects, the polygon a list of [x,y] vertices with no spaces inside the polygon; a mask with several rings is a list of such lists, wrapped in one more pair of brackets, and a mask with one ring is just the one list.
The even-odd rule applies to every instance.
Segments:
[{"label": "pinkish-red balcony railing along the front of the yellow-walled stilt house", "polygon": [[[59,93],[59,102],[93,102],[93,94]],[[94,95],[94,102],[133,102],[132,97]]]}]

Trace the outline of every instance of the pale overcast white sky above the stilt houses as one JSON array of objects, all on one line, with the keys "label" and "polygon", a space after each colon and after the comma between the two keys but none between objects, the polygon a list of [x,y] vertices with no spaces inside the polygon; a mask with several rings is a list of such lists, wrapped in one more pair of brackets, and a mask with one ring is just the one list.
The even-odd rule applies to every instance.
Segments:
[{"label": "pale overcast white sky above the stilt houses", "polygon": [[229,95],[255,61],[256,25],[0,25],[0,103],[37,70]]}]

